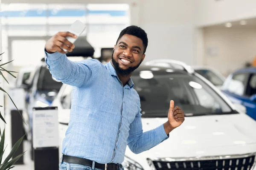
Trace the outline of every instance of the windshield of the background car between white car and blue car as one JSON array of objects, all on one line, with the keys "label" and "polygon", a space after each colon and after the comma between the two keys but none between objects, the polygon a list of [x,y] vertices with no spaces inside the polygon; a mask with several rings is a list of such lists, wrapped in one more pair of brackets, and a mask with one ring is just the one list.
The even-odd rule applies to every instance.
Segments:
[{"label": "windshield of the background car between white car and blue car", "polygon": [[195,70],[198,74],[201,74],[204,78],[208,79],[213,85],[222,85],[224,81],[210,70],[201,69]]}]

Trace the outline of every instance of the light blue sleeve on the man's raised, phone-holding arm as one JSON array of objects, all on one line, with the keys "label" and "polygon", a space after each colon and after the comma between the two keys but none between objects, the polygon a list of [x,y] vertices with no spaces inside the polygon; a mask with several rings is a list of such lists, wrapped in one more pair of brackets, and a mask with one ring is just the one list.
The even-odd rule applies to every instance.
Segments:
[{"label": "light blue sleeve on the man's raised, phone-holding arm", "polygon": [[67,59],[66,54],[49,54],[46,51],[45,54],[45,62],[52,77],[64,84],[76,87],[89,86],[98,77],[101,63],[96,59],[73,62]]}]

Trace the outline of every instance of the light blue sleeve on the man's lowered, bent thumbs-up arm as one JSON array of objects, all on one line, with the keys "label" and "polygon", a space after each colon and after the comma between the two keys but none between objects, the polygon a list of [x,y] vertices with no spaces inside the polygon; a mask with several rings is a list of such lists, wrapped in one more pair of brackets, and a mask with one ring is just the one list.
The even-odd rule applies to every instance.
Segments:
[{"label": "light blue sleeve on the man's lowered, bent thumbs-up arm", "polygon": [[128,147],[136,154],[149,150],[169,138],[163,125],[143,133],[141,115],[140,112],[137,113],[134,121],[131,123],[127,139]]}]

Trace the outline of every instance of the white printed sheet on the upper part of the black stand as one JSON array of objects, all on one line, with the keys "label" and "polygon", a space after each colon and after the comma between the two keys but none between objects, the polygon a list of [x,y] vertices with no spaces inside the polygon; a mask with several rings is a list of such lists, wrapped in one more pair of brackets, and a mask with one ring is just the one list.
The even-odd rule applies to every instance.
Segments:
[{"label": "white printed sheet on the upper part of the black stand", "polygon": [[57,107],[33,108],[33,147],[58,147]]}]

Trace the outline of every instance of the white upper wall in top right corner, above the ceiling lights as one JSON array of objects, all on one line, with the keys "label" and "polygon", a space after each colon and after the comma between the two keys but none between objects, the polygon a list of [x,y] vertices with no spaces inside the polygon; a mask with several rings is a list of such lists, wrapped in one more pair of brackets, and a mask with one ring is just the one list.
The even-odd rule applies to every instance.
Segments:
[{"label": "white upper wall in top right corner, above the ceiling lights", "polygon": [[256,0],[194,0],[196,26],[256,17]]}]

